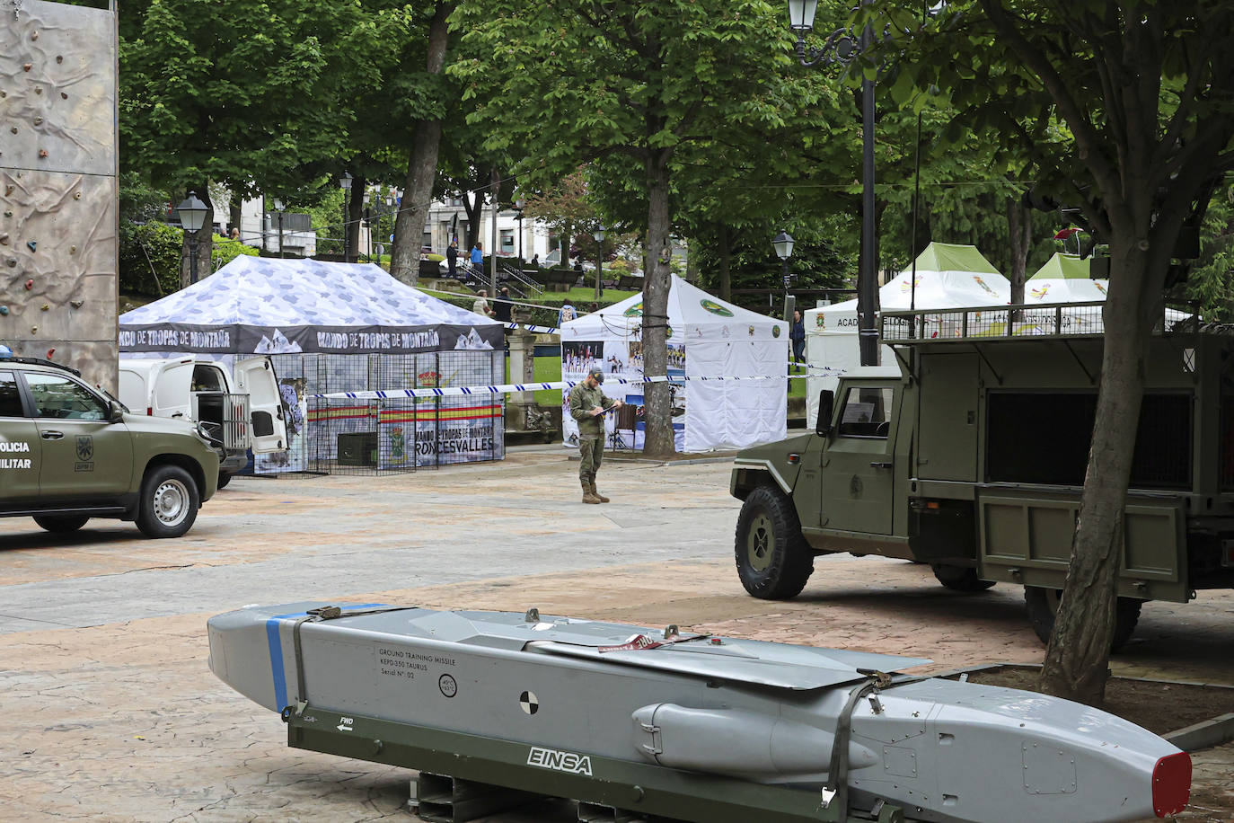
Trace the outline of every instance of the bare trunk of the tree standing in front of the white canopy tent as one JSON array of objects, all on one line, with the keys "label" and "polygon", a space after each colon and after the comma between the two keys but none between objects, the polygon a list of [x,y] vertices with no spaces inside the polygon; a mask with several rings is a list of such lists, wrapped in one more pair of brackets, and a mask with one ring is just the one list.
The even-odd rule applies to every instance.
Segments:
[{"label": "bare trunk of the tree standing in front of the white canopy tent", "polygon": [[[673,285],[669,260],[669,153],[647,153],[647,260],[643,264],[643,374],[668,375],[669,289]],[[643,452],[665,457],[676,452],[673,439],[673,395],[666,383],[647,384],[647,440]]]}]

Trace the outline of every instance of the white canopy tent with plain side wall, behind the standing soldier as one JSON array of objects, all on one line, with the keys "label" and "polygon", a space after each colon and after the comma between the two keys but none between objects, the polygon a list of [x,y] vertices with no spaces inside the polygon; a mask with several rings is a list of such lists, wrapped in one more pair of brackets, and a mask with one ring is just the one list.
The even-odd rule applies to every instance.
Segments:
[{"label": "white canopy tent with plain side wall, behind the standing soldier", "polygon": [[[780,380],[689,380],[674,386],[674,429],[681,452],[737,449],[787,436],[787,323],[727,304],[673,275],[669,290],[669,376]],[[634,295],[561,326],[561,374],[581,379],[592,365],[607,375],[643,376],[643,296]],[[608,439],[617,448],[639,448],[644,386],[606,381],[605,394],[632,408],[608,415]],[[565,395],[563,392],[563,406]],[[566,443],[578,426],[563,410]]]}]

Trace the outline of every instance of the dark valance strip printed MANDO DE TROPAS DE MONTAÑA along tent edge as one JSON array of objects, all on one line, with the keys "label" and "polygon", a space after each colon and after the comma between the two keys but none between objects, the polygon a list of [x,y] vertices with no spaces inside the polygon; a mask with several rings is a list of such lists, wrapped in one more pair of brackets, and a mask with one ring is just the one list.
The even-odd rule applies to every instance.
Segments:
[{"label": "dark valance strip printed MANDO DE TROPAS DE MONTA\u00d1A along tent edge", "polygon": [[122,325],[121,352],[212,354],[411,354],[492,350],[503,345],[502,327],[479,326],[199,326]]}]

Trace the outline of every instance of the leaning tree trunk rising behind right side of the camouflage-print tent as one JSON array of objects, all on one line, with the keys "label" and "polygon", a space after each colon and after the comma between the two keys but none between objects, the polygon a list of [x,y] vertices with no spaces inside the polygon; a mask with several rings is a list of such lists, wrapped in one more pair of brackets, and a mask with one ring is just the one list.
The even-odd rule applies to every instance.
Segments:
[{"label": "leaning tree trunk rising behind right side of the camouflage-print tent", "polygon": [[[449,44],[447,27],[453,2],[438,0],[433,19],[428,23],[429,74],[441,74],[445,67],[445,48]],[[424,223],[433,196],[437,176],[437,152],[442,143],[441,120],[417,120],[407,160],[407,180],[404,184],[402,206],[394,226],[394,246],[390,249],[390,274],[410,285],[420,278],[420,247],[423,244]],[[470,234],[470,227],[468,233]]]}]

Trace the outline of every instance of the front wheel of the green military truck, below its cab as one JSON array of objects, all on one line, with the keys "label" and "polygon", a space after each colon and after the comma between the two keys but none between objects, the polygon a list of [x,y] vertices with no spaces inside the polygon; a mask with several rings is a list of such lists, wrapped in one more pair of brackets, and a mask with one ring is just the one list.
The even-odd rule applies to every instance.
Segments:
[{"label": "front wheel of the green military truck, below its cab", "polygon": [[734,553],[745,591],[763,600],[796,597],[814,570],[792,501],[770,486],[759,486],[745,498]]}]

